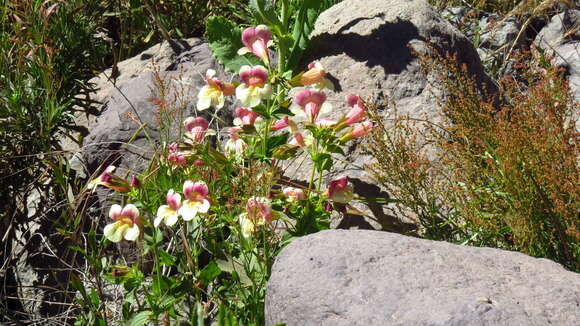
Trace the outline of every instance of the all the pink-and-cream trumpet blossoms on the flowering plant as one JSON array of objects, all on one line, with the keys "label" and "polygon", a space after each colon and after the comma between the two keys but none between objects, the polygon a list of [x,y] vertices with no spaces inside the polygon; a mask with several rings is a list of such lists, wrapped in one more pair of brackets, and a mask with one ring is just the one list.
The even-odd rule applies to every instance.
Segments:
[{"label": "all the pink-and-cream trumpet blossoms on the flowering plant", "polygon": [[[272,46],[270,30],[264,25],[248,28],[242,33],[242,42],[244,47],[238,53],[240,55],[252,54],[260,58],[265,66],[241,66],[240,83],[223,82],[216,77],[216,71],[210,69],[205,74],[206,85],[198,93],[197,109],[199,111],[210,107],[220,110],[225,104],[226,97],[233,95],[241,103],[241,106],[234,111],[234,126],[227,129],[229,139],[223,144],[225,157],[235,158],[237,163],[243,162],[245,158],[250,157],[245,154],[248,149],[265,148],[268,146],[270,133],[275,132],[287,135],[283,138],[286,139],[286,144],[275,145],[279,146],[278,149],[290,148],[294,153],[292,155],[295,155],[297,150],[304,149],[313,160],[319,157],[328,159],[331,153],[341,152],[336,149],[337,145],[343,145],[351,139],[362,137],[370,132],[373,124],[367,120],[367,107],[357,95],[347,96],[346,104],[350,110],[340,119],[333,120],[328,117],[328,113],[332,111],[332,105],[327,100],[325,90],[332,90],[333,84],[326,78],[326,71],[320,62],[312,62],[308,65],[308,70],[292,79],[281,78],[275,72],[272,72],[271,76],[268,50]],[[278,103],[281,99],[283,100],[282,97],[273,96],[274,90],[277,94],[290,91],[284,89],[284,87],[288,88],[288,85],[300,87],[293,92],[295,95],[289,107],[288,104]],[[282,106],[288,107],[292,115],[286,115],[287,110],[277,111]],[[205,138],[211,135],[209,126],[210,122],[203,117],[186,118],[183,121],[184,140],[167,146],[165,162],[172,168],[187,167],[188,158],[194,157],[191,160],[194,161],[193,168],[197,167],[197,162],[204,164],[198,159],[198,153],[202,148],[207,148],[200,145],[205,144]],[[255,137],[247,138],[248,134],[254,134]],[[214,152],[217,153],[215,150]],[[268,153],[272,152],[264,149],[261,157],[267,157]],[[277,157],[276,151],[273,153],[274,157]],[[318,162],[317,169],[320,176],[324,169],[329,169],[327,166],[320,167],[325,166],[324,164],[324,162]],[[120,192],[137,188],[137,186],[131,187],[125,180],[113,175],[113,170],[112,166],[107,168],[101,176],[92,181],[91,187],[104,185]],[[308,200],[313,191],[309,188],[306,190],[287,187],[281,193],[286,203],[296,206]],[[153,226],[159,227],[165,224],[171,227],[178,222],[180,217],[184,221],[191,221],[199,214],[207,213],[211,206],[208,195],[208,186],[203,181],[185,181],[182,194],[169,189],[165,196],[166,204],[157,209]],[[347,177],[339,177],[330,182],[324,195],[332,202],[346,204],[353,199],[353,188]],[[246,211],[238,216],[242,235],[251,237],[256,227],[271,222],[278,218],[279,214],[272,209],[270,199],[256,196],[249,198]],[[134,205],[129,204],[124,208],[114,205],[109,215],[114,220],[105,227],[105,236],[109,240],[134,241],[139,237],[142,224],[139,211]]]}]

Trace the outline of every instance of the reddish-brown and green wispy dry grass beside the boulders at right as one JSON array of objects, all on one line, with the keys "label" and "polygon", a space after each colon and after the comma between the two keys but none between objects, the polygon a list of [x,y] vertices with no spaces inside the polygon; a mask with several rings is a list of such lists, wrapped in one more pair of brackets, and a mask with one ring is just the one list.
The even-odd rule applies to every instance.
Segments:
[{"label": "reddish-brown and green wispy dry grass beside the boulders at right", "polygon": [[578,107],[561,72],[524,69],[523,81],[503,80],[498,105],[479,95],[454,60],[422,61],[448,94],[440,99],[448,125],[427,136],[436,158],[413,141],[419,128],[386,129],[379,119],[371,171],[429,237],[518,250],[578,270]]}]

